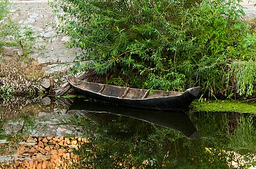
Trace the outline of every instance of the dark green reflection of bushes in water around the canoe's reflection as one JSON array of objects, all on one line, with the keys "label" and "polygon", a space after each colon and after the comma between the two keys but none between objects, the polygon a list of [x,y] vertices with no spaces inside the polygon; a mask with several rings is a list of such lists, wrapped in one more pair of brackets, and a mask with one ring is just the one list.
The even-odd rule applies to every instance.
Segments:
[{"label": "dark green reflection of bushes in water around the canoe's reflection", "polygon": [[[229,168],[231,160],[247,159],[236,167],[254,164],[255,124],[252,117],[235,113],[190,113],[200,140],[126,117],[106,123],[84,120],[90,126],[88,143],[76,150],[77,167],[97,168]],[[244,139],[247,138],[247,139]],[[247,148],[234,156],[240,144]],[[251,152],[251,155],[247,155]],[[253,155],[254,154],[254,155]],[[251,159],[250,159],[251,158]],[[251,160],[251,161],[250,161]]]}]

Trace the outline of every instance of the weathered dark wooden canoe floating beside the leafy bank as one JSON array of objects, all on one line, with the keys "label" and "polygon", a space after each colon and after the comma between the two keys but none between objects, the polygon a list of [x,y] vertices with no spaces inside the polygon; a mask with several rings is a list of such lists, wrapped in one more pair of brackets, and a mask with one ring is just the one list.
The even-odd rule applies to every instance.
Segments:
[{"label": "weathered dark wooden canoe floating beside the leafy bank", "polygon": [[68,76],[67,80],[76,91],[93,100],[164,111],[180,111],[187,108],[200,90],[199,87],[184,92],[154,90],[153,94],[150,94],[150,90],[84,82],[73,76]]}]

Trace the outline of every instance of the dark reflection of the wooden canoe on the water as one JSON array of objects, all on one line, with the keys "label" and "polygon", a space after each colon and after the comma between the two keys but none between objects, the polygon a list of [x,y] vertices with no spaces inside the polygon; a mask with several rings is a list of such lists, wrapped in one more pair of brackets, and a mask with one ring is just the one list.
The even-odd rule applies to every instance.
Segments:
[{"label": "dark reflection of the wooden canoe on the water", "polygon": [[145,122],[157,124],[158,126],[180,131],[190,139],[200,138],[194,124],[184,112],[157,112],[93,101],[74,101],[70,110],[83,113],[84,115],[93,118],[99,117],[99,115],[104,116],[107,113],[132,117],[134,119],[143,120]]}]

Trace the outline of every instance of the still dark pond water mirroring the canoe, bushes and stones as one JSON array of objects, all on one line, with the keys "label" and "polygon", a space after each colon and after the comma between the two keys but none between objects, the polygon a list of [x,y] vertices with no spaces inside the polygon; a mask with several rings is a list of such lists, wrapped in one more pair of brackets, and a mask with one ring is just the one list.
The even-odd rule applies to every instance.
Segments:
[{"label": "still dark pond water mirroring the canoe, bushes and stones", "polygon": [[256,167],[255,113],[20,97],[0,104],[0,118],[0,168]]}]

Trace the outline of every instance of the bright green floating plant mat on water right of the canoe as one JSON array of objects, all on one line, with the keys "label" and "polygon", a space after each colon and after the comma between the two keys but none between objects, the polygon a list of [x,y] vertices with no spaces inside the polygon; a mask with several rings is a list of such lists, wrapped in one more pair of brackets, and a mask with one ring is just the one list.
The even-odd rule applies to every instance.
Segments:
[{"label": "bright green floating plant mat on water right of the canoe", "polygon": [[256,104],[234,100],[198,101],[192,102],[193,111],[198,112],[238,112],[256,114]]}]

